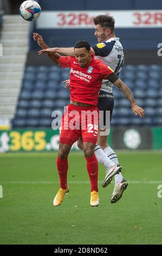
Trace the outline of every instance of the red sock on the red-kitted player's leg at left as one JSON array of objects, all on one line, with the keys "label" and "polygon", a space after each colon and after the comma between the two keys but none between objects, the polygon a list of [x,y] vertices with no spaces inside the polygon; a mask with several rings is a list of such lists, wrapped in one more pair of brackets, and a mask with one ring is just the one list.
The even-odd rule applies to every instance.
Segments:
[{"label": "red sock on the red-kitted player's leg at left", "polygon": [[57,156],[57,170],[60,178],[60,187],[65,190],[67,187],[68,158],[60,159]]}]

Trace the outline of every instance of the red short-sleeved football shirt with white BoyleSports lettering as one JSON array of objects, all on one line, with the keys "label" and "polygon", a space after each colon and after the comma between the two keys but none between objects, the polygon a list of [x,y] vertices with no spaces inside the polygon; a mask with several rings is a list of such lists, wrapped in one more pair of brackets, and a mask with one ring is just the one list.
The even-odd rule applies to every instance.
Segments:
[{"label": "red short-sleeved football shirt with white BoyleSports lettering", "polygon": [[75,57],[60,57],[59,63],[62,68],[70,69],[70,100],[98,105],[98,94],[102,80],[107,78],[113,71],[92,56],[92,62],[81,68]]}]

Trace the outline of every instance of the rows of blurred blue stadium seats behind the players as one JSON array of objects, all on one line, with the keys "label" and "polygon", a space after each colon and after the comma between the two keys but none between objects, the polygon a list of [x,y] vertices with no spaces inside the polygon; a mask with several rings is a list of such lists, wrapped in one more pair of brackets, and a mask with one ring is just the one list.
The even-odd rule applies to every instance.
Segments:
[{"label": "rows of blurred blue stadium seats behind the players", "polygon": [[[145,108],[146,117],[134,117],[129,102],[114,87],[113,126],[162,124],[161,74],[162,65],[124,66],[121,78],[131,88],[138,104]],[[69,90],[62,85],[62,81],[68,78],[69,70],[58,66],[27,66],[12,126],[51,127],[51,113],[57,109],[63,112],[63,106],[69,103]]]}]

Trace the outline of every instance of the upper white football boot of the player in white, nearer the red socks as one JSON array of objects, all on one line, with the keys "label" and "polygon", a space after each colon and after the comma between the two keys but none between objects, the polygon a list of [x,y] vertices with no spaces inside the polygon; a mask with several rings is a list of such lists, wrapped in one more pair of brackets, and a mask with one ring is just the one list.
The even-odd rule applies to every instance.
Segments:
[{"label": "upper white football boot of the player in white, nearer the red socks", "polygon": [[116,163],[111,169],[106,170],[105,179],[102,182],[102,187],[106,187],[108,184],[111,183],[113,176],[121,172],[122,167]]}]

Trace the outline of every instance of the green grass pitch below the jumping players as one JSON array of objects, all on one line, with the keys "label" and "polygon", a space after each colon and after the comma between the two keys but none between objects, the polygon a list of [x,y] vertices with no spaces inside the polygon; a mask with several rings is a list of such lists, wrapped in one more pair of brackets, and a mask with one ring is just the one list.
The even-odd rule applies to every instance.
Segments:
[{"label": "green grass pitch below the jumping players", "polygon": [[[82,153],[70,153],[70,192],[53,206],[59,188],[56,153],[0,155],[0,243],[53,245],[161,244],[161,153],[117,151],[129,186],[111,204],[113,183],[101,187],[100,205],[89,204],[90,184]],[[162,193],[161,193],[162,194]]]}]

